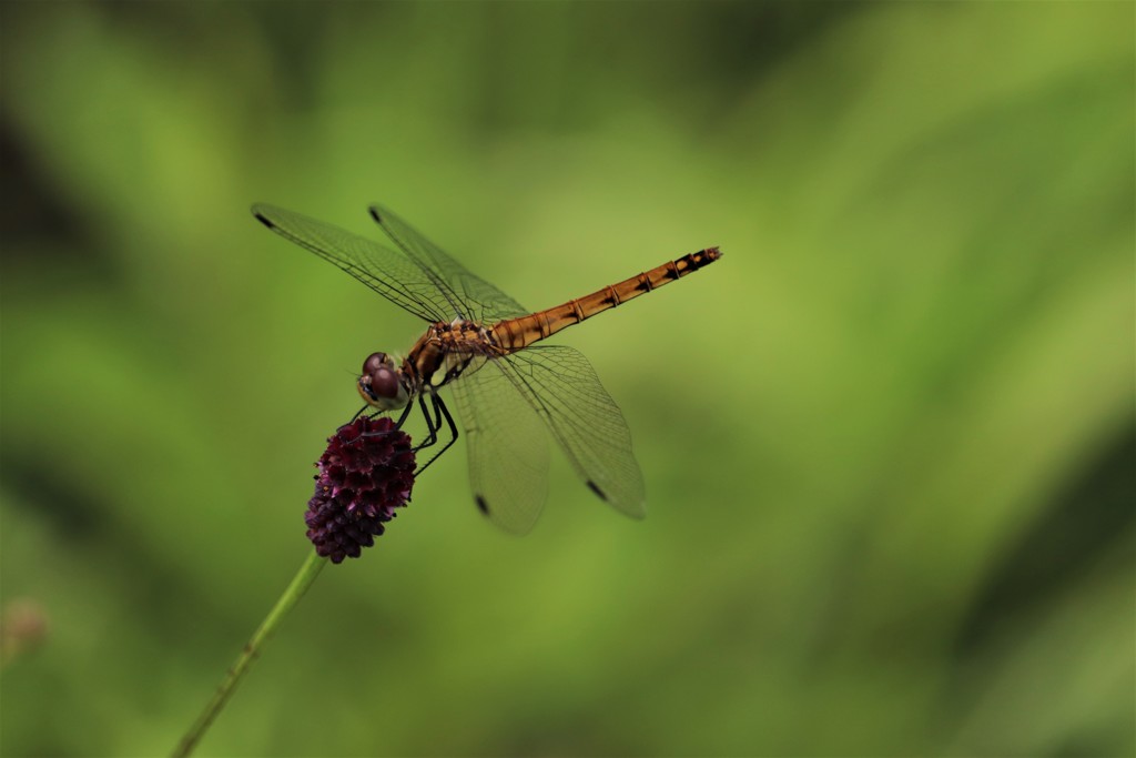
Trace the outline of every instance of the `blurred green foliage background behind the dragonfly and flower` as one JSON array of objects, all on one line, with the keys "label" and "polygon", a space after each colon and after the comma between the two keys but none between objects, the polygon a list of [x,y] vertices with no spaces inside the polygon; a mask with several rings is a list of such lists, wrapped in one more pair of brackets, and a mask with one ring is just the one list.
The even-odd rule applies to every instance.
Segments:
[{"label": "blurred green foliage background behind the dragonfly and flower", "polygon": [[533,308],[725,257],[557,339],[645,522],[561,459],[510,538],[459,447],[201,755],[1133,755],[1134,16],[0,6],[3,755],[173,748],[423,328],[260,200]]}]

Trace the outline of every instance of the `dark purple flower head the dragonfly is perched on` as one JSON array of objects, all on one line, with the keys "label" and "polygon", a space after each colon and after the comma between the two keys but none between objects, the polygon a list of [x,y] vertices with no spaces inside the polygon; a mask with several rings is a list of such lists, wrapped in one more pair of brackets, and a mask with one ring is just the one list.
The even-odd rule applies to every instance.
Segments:
[{"label": "dark purple flower head the dragonfly is perched on", "polygon": [[375,544],[415,485],[410,438],[385,416],[341,426],[316,467],[316,494],[304,520],[316,552],[333,564]]}]

